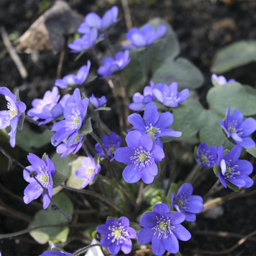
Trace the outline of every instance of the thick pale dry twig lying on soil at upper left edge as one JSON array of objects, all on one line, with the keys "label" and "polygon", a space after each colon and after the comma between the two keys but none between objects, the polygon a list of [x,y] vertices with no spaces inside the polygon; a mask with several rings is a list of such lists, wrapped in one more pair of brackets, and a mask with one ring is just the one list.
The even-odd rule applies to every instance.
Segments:
[{"label": "thick pale dry twig lying on soil at upper left edge", "polygon": [[25,66],[23,65],[23,63],[21,62],[20,57],[18,56],[18,54],[16,53],[16,51],[12,47],[12,44],[11,44],[9,38],[8,38],[8,35],[7,35],[7,32],[4,28],[4,26],[0,27],[0,33],[1,33],[1,36],[3,38],[3,43],[4,43],[7,51],[9,52],[14,64],[16,65],[16,67],[17,67],[17,69],[20,73],[20,76],[23,79],[26,79],[28,77],[28,72],[27,72]]}]

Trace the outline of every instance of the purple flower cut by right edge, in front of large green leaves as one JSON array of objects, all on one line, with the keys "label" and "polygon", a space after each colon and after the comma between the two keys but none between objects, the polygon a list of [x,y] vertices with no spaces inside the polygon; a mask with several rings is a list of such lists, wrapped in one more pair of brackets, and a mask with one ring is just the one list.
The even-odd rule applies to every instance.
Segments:
[{"label": "purple flower cut by right edge, in front of large green leaves", "polygon": [[243,114],[238,109],[235,109],[231,116],[230,107],[228,107],[225,122],[223,120],[220,121],[220,125],[228,138],[231,137],[236,144],[246,149],[255,147],[254,140],[247,136],[255,132],[256,120],[249,117],[243,121],[243,118]]}]

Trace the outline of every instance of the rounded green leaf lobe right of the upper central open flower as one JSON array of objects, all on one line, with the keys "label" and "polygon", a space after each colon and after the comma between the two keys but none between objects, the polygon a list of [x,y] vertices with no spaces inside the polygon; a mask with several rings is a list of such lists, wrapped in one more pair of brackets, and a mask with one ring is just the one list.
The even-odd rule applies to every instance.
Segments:
[{"label": "rounded green leaf lobe right of the upper central open flower", "polygon": [[204,125],[205,110],[201,103],[198,100],[186,100],[184,105],[188,108],[188,112],[179,108],[173,110],[174,121],[171,128],[182,132],[181,137],[173,138],[173,140],[186,140],[194,136]]}]

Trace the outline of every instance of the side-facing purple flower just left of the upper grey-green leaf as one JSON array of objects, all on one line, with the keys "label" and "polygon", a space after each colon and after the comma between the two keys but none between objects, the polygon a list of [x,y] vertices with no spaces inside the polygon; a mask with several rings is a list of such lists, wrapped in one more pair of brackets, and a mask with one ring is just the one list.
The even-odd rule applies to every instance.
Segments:
[{"label": "side-facing purple flower just left of the upper grey-green leaf", "polygon": [[129,51],[117,52],[115,59],[105,57],[102,61],[102,66],[98,69],[98,74],[104,77],[112,76],[117,70],[124,69],[130,62]]}]

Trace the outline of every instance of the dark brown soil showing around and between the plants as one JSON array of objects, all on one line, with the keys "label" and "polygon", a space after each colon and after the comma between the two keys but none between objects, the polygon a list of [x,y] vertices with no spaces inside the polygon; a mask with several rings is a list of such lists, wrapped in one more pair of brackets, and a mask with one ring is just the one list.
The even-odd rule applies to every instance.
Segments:
[{"label": "dark brown soil showing around and between the plants", "polygon": [[[82,15],[94,11],[102,15],[112,4],[117,4],[120,10],[120,22],[116,25],[111,34],[111,40],[116,42],[121,33],[126,31],[122,5],[120,1],[68,1],[72,8],[76,9]],[[111,4],[110,4],[111,2]],[[50,4],[53,4],[51,2]],[[41,1],[0,1],[0,24],[3,25],[8,34],[15,31],[22,35],[26,29],[38,17]],[[255,39],[256,37],[256,1],[157,1],[157,0],[134,0],[129,1],[130,11],[132,13],[133,26],[141,26],[149,19],[160,16],[170,22],[174,31],[177,33],[181,45],[181,56],[191,60],[204,74],[205,83],[197,91],[205,105],[205,94],[211,87],[210,67],[213,56],[223,46],[230,42],[241,39]],[[216,22],[230,18],[235,24],[235,28],[222,26],[216,28]],[[104,45],[100,44],[100,50],[104,50]],[[21,53],[20,58],[28,70],[28,78],[23,80],[20,77],[10,56],[4,53],[5,48],[0,41],[0,84],[7,86],[11,90],[20,89],[20,98],[28,106],[31,106],[33,98],[40,98],[48,89],[52,89],[56,79],[56,70],[59,55],[54,56],[52,52],[40,52],[39,60],[33,62],[30,54]],[[68,53],[65,56],[62,75],[75,72],[79,67],[86,63],[87,59],[92,60],[92,56],[85,54],[78,61],[74,61],[76,54]],[[91,72],[96,72],[97,64],[92,61]],[[243,84],[256,85],[256,64],[252,63],[247,66],[236,68],[228,72],[228,79],[235,78]],[[88,87],[88,92],[94,92],[96,96],[106,95],[108,106],[114,108],[113,96],[109,87],[103,80],[97,80],[93,86]],[[2,98],[0,107],[5,103]],[[205,106],[207,107],[207,106]],[[110,111],[109,111],[110,112]],[[116,114],[106,113],[102,116],[109,128],[116,130]],[[108,120],[111,120],[109,122]],[[33,126],[31,126],[33,127]],[[35,129],[35,127],[33,127]],[[2,143],[1,143],[2,144]],[[1,145],[2,146],[2,145]],[[20,148],[11,149],[7,145],[3,146],[13,157],[18,159],[22,164],[27,165],[27,153]],[[47,145],[35,154],[39,156],[45,151],[48,154],[54,152],[51,145]],[[22,202],[23,190],[27,182],[22,178],[22,171],[17,166],[11,166],[7,172],[6,162],[0,158],[0,182],[1,186],[8,188],[12,193],[20,196],[21,200],[15,199],[0,188],[0,233],[12,233],[28,227],[28,220],[38,208],[33,204],[25,205]],[[3,163],[3,164],[2,164]],[[189,171],[192,166],[183,166]],[[207,181],[207,182],[206,182]],[[207,180],[195,189],[196,195],[203,196],[207,190],[214,184],[214,174],[207,175]],[[249,191],[249,189],[248,189]],[[226,195],[229,190],[222,190],[218,195]],[[255,224],[255,194],[249,197],[235,199],[223,205],[224,214],[216,220],[206,219],[200,214],[194,226],[189,225],[192,233],[192,239],[189,242],[180,242],[180,252],[183,255],[192,255],[195,250],[221,251],[230,248],[237,243],[237,238],[223,238],[211,235],[193,235],[196,230],[227,231],[241,235],[247,235],[256,229]],[[3,208],[10,208],[11,212],[18,211],[15,216],[10,216],[2,211]],[[76,209],[79,206],[76,205]],[[20,213],[25,214],[25,216]],[[79,219],[81,222],[88,221],[85,216]],[[93,218],[90,221],[95,221]],[[102,220],[103,221],[103,220]],[[188,225],[186,224],[188,227]],[[72,235],[77,236],[73,231]],[[73,252],[80,246],[80,242],[72,242],[65,247],[65,250]],[[28,234],[18,236],[10,240],[0,241],[0,250],[2,255],[39,255],[47,249],[47,244],[40,245],[36,243]],[[204,254],[204,253],[203,253]],[[255,241],[246,241],[232,252],[226,255],[255,255]],[[202,255],[201,253],[195,255]]]}]

